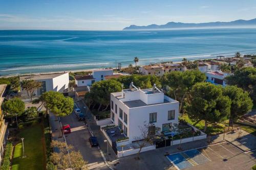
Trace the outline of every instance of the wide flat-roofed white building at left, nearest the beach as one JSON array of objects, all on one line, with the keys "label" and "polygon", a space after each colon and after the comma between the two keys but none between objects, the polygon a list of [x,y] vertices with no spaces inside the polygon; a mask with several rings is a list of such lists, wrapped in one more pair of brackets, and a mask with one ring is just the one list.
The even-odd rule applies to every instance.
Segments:
[{"label": "wide flat-roofed white building at left, nearest the beach", "polygon": [[[41,95],[46,91],[58,91],[63,92],[63,90],[69,88],[69,73],[58,73],[49,75],[32,75],[20,77],[20,81],[23,80],[34,80],[41,82],[41,88],[39,88],[34,95]],[[22,89],[22,96],[28,96],[27,92]]]}]

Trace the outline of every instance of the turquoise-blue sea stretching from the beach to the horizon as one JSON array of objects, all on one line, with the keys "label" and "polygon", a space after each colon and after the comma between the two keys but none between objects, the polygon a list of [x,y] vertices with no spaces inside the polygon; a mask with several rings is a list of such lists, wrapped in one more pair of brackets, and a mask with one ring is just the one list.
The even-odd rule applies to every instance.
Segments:
[{"label": "turquoise-blue sea stretching from the beach to the horizon", "polygon": [[0,76],[256,53],[256,29],[0,31]]}]

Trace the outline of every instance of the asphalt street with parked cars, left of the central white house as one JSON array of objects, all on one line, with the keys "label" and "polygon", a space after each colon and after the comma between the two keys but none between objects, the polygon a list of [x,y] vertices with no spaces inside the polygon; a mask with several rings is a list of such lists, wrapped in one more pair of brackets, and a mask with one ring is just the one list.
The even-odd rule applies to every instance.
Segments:
[{"label": "asphalt street with parked cars, left of the central white house", "polygon": [[[83,108],[80,108],[84,112]],[[89,137],[91,136],[87,126],[83,121],[78,121],[75,113],[62,117],[62,125],[69,124],[71,133],[66,134],[68,144],[73,145],[74,149],[80,151],[84,160],[88,162],[90,169],[109,169],[106,166],[97,147],[91,147]]]}]

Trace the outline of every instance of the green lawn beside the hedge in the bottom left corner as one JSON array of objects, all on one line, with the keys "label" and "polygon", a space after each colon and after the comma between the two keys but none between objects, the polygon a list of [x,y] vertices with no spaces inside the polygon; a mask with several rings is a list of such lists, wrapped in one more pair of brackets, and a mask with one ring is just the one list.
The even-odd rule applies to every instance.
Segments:
[{"label": "green lawn beside the hedge in the bottom left corner", "polygon": [[28,127],[18,133],[18,137],[24,137],[26,158],[22,158],[22,142],[15,145],[12,159],[12,170],[18,169],[45,169],[44,148],[41,125]]}]

